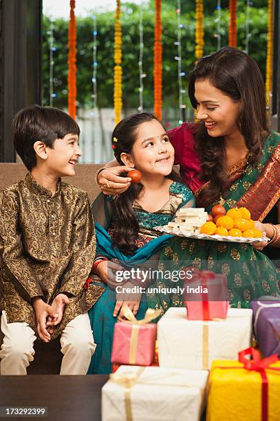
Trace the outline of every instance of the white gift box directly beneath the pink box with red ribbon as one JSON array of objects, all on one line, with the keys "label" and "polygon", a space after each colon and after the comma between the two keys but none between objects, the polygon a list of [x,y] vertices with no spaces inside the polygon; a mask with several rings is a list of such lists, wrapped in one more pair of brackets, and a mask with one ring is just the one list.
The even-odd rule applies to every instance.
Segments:
[{"label": "white gift box directly beneath the pink box with red ribbon", "polygon": [[230,308],[219,321],[188,320],[171,307],[158,322],[160,367],[209,369],[213,360],[237,360],[252,341],[252,310]]}]

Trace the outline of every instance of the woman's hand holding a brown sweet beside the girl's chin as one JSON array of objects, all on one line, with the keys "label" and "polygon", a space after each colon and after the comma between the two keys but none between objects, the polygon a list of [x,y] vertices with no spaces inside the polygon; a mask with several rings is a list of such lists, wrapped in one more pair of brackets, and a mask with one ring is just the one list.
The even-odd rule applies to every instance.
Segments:
[{"label": "woman's hand holding a brown sweet beside the girl's chin", "polygon": [[131,171],[133,168],[120,165],[105,168],[97,176],[97,182],[105,195],[120,195],[125,193],[131,184],[131,178],[120,177],[120,174]]}]

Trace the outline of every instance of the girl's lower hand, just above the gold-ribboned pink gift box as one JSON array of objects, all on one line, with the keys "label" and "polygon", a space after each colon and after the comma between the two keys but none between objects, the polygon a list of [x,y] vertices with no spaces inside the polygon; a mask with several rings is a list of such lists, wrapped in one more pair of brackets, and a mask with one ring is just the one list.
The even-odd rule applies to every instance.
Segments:
[{"label": "girl's lower hand, just above the gold-ribboned pink gift box", "polygon": [[[135,286],[136,285],[133,285],[133,283],[127,281],[123,288],[133,288]],[[118,315],[118,321],[127,321],[122,315],[122,311],[125,307],[129,307],[135,316],[139,310],[141,296],[142,294],[136,292],[117,292],[113,316],[116,317]]]}]

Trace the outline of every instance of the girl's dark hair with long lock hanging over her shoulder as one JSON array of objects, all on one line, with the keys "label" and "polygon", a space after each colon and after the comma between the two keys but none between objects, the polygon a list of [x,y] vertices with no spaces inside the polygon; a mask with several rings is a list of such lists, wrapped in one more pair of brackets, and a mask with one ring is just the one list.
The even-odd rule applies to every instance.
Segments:
[{"label": "girl's dark hair with long lock hanging over her shoulder", "polygon": [[[132,114],[121,120],[116,125],[112,136],[112,147],[114,148],[114,155],[120,165],[124,165],[120,159],[122,153],[131,153],[133,144],[136,142],[138,127],[144,122],[158,120],[151,113]],[[164,125],[162,125],[164,128]],[[165,128],[164,128],[165,130]],[[124,173],[125,177],[127,173]],[[169,175],[173,177],[173,173]],[[114,246],[117,246],[120,251],[130,255],[137,249],[136,239],[139,232],[139,224],[133,210],[133,202],[137,199],[142,191],[143,185],[141,183],[129,186],[125,193],[118,196],[113,203],[114,228],[112,230],[112,239]]]}]

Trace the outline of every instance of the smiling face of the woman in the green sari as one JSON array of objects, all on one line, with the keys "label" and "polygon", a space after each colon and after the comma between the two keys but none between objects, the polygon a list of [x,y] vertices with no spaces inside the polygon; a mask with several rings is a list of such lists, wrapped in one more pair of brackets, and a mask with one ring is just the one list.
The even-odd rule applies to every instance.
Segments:
[{"label": "smiling face of the woman in the green sari", "polygon": [[240,133],[236,122],[241,101],[234,102],[207,79],[195,81],[195,99],[197,118],[204,121],[208,135],[216,138]]}]

